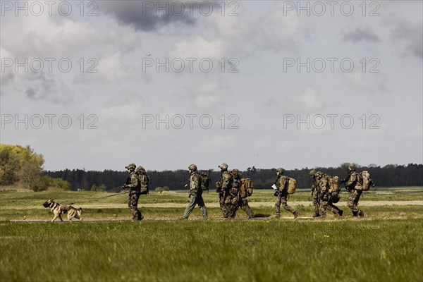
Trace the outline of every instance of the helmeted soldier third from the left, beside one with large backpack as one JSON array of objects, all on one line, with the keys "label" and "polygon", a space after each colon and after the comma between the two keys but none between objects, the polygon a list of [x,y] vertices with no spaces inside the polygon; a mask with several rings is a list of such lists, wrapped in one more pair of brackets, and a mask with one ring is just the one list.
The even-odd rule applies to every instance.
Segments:
[{"label": "helmeted soldier third from the left, beside one with large backpack", "polygon": [[235,217],[235,214],[233,214],[233,210],[231,209],[231,188],[233,178],[231,173],[228,171],[227,164],[221,164],[219,168],[221,169],[221,178],[219,182],[216,182],[216,192],[219,192],[220,207],[222,209],[223,217],[233,218]]}]

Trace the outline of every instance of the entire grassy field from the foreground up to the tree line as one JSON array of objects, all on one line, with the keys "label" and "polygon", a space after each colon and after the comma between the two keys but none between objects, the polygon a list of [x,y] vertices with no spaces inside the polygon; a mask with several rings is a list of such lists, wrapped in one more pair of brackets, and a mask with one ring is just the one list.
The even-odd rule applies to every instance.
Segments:
[{"label": "entire grassy field from the foreground up to the tree line", "polygon": [[[210,192],[211,219],[176,221],[186,192],[151,193],[140,200],[141,222],[127,220],[127,195],[0,191],[0,281],[423,281],[422,191],[366,193],[361,220],[348,214],[347,195],[347,216],[310,219],[309,192],[288,201],[301,218],[271,219],[274,197],[257,190],[258,219],[242,210],[239,220],[219,219]],[[41,205],[48,198],[75,202],[87,221],[32,222],[53,217]]]}]

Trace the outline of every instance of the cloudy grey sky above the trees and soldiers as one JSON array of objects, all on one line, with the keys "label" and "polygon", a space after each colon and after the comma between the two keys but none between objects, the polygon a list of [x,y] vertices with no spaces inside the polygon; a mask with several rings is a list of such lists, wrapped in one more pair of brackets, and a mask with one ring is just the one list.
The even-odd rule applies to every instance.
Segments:
[{"label": "cloudy grey sky above the trees and soldiers", "polygon": [[0,4],[0,142],[46,170],[423,162],[422,1]]}]

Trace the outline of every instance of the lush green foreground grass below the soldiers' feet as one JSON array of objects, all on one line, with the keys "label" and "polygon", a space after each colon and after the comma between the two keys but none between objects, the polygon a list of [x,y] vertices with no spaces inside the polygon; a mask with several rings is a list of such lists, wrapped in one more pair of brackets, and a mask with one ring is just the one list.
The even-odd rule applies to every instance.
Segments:
[{"label": "lush green foreground grass below the soldiers' feet", "polygon": [[1,281],[422,281],[423,219],[0,223]]}]

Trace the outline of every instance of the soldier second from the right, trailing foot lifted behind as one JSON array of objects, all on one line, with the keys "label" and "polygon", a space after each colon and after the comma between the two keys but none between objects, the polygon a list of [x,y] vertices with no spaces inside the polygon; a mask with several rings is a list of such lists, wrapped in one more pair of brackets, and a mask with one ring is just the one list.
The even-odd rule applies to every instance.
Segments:
[{"label": "soldier second from the right, trailing foot lifted behind", "polygon": [[326,209],[333,212],[335,216],[342,216],[343,210],[336,207],[334,202],[339,201],[338,191],[331,191],[330,183],[329,183],[329,176],[321,171],[317,171],[316,178],[319,181],[319,188],[320,188],[320,207],[321,207],[321,217],[326,217]]}]

